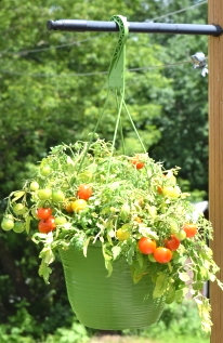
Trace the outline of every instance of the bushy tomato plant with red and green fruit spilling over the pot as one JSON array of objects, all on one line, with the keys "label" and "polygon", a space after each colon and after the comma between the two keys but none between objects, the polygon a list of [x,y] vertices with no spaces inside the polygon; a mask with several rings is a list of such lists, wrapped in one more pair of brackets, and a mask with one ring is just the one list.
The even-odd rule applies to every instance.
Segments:
[{"label": "bushy tomato plant with red and green fruit spilling over the pot", "polygon": [[[38,223],[31,238],[43,245],[39,271],[47,282],[49,264],[61,247],[78,247],[88,259],[94,243],[102,249],[109,274],[119,256],[128,263],[134,283],[150,274],[155,298],[180,303],[192,272],[192,298],[207,314],[198,281],[209,278],[223,288],[207,247],[211,223],[202,214],[194,216],[188,194],[178,186],[178,167],[165,170],[147,154],[120,155],[115,146],[95,135],[91,142],[52,147],[23,189],[8,197],[2,228],[30,233],[30,221]],[[202,234],[189,239],[198,227],[204,227]],[[202,318],[207,327],[208,320]]]}]

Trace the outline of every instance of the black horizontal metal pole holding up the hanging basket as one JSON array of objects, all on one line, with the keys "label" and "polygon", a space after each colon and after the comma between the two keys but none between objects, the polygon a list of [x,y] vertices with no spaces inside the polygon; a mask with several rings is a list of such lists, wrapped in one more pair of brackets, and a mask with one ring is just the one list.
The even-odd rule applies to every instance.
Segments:
[{"label": "black horizontal metal pole holding up the hanging basket", "polygon": [[[209,35],[220,36],[223,29],[219,25],[199,25],[199,24],[163,24],[163,23],[131,23],[129,22],[130,32],[140,34],[175,34],[175,35]],[[119,30],[115,22],[96,22],[82,19],[61,19],[48,21],[49,30],[62,31],[100,31],[116,32]]]}]

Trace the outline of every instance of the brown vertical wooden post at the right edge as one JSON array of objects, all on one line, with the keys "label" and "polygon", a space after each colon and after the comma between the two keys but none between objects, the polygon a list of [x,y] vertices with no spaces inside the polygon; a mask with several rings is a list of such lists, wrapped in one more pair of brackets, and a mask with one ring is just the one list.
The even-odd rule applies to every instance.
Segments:
[{"label": "brown vertical wooden post at the right edge", "polygon": [[[223,0],[209,0],[209,24],[223,26]],[[214,228],[211,242],[223,281],[223,36],[209,38],[209,213]],[[211,285],[211,343],[223,343],[223,292]]]}]

